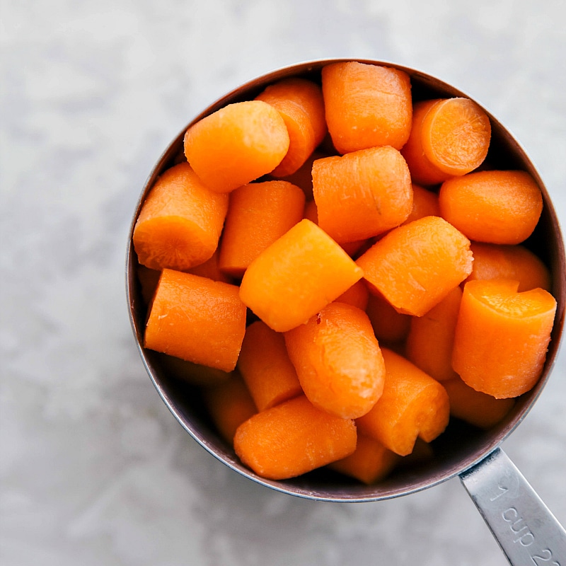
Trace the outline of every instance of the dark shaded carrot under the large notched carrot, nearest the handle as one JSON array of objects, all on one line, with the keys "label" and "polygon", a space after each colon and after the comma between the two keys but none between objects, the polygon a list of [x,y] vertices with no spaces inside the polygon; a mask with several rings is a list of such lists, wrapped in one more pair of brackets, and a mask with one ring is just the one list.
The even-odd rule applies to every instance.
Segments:
[{"label": "dark shaded carrot under the large notched carrot, nearest the handle", "polygon": [[482,429],[490,429],[502,421],[515,404],[514,398],[496,399],[475,391],[458,376],[443,381],[442,385],[450,399],[450,415]]}]

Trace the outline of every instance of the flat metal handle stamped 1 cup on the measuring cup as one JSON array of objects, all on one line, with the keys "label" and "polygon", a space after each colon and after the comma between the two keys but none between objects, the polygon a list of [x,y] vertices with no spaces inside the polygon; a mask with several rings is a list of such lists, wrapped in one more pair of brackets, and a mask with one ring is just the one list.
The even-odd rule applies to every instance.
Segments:
[{"label": "flat metal handle stamped 1 cup on the measuring cup", "polygon": [[501,449],[460,479],[512,566],[566,566],[565,529]]}]

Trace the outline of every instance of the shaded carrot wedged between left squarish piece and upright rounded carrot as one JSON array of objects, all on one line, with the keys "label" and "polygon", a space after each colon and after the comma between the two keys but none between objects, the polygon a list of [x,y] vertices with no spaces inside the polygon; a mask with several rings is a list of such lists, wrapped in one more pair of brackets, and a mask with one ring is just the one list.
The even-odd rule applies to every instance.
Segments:
[{"label": "shaded carrot wedged between left squarish piece and upright rounded carrot", "polygon": [[260,411],[303,393],[283,335],[261,320],[246,328],[237,367]]}]

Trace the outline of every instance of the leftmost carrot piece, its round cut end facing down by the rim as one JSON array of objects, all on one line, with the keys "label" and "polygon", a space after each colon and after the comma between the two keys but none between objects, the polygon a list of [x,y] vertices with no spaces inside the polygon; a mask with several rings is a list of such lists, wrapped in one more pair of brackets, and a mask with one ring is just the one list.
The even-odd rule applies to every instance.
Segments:
[{"label": "leftmost carrot piece, its round cut end facing down by the rim", "polygon": [[168,169],[144,201],[134,228],[138,260],[153,270],[188,270],[208,260],[228,210],[228,196],[200,182],[188,163]]}]

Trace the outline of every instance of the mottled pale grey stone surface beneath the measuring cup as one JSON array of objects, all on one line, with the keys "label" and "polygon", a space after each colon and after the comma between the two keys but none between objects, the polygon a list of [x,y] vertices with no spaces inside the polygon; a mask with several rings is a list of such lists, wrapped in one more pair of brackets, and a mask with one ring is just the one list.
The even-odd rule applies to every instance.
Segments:
[{"label": "mottled pale grey stone surface beneath the measuring cup", "polygon": [[[558,0],[1,0],[0,563],[503,565],[458,480],[314,503],[173,420],[125,301],[141,187],[180,129],[285,64],[368,57],[454,83],[516,134],[566,221]],[[566,352],[503,448],[566,524]]]}]

